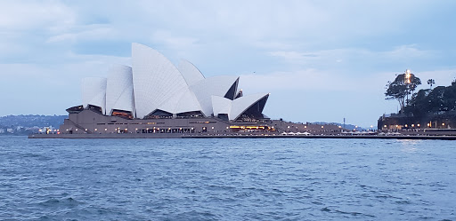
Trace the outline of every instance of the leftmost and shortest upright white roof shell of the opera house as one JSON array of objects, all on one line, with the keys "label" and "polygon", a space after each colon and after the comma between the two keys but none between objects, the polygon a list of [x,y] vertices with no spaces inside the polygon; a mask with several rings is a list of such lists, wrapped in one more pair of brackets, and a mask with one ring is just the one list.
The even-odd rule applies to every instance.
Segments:
[{"label": "leftmost and shortest upright white roof shell of the opera house", "polygon": [[82,104],[83,107],[93,105],[102,107],[106,111],[106,78],[85,77],[82,79]]}]

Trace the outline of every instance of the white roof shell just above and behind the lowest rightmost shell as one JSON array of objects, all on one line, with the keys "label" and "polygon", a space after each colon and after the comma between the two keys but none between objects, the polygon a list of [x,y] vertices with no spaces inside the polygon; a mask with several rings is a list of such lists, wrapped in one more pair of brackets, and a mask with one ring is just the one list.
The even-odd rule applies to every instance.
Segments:
[{"label": "white roof shell just above and behind the lowest rightmost shell", "polygon": [[238,78],[233,75],[219,75],[206,78],[190,86],[199,101],[203,114],[207,116],[213,114],[212,96],[224,97]]}]

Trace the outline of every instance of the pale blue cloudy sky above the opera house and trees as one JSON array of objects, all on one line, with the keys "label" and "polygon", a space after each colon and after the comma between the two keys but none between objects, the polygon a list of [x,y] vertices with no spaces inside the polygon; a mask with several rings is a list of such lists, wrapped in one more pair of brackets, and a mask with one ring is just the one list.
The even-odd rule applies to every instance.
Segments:
[{"label": "pale blue cloudy sky above the opera house and trees", "polygon": [[387,81],[456,77],[456,1],[1,1],[0,115],[67,114],[80,82],[131,65],[131,43],[240,75],[264,114],[376,125]]}]

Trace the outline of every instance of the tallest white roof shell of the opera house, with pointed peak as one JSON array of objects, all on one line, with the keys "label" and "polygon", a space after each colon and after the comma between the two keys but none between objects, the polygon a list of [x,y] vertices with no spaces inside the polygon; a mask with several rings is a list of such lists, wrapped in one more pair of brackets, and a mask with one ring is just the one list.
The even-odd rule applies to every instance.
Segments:
[{"label": "tallest white roof shell of the opera house, with pointed peak", "polygon": [[150,114],[187,87],[177,67],[159,51],[133,43],[132,61],[137,117]]}]

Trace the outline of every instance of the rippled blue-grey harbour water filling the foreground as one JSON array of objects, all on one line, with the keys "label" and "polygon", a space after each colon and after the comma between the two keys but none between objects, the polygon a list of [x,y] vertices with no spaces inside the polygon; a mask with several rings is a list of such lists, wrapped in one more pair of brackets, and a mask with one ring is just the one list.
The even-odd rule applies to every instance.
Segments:
[{"label": "rippled blue-grey harbour water filling the foreground", "polygon": [[0,137],[1,220],[456,220],[456,142]]}]

